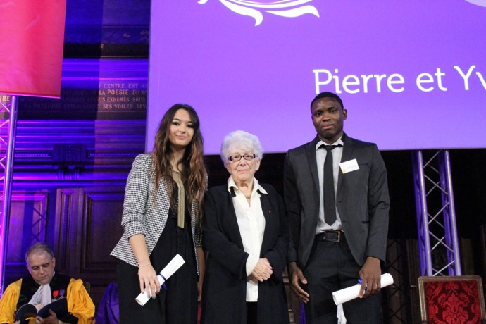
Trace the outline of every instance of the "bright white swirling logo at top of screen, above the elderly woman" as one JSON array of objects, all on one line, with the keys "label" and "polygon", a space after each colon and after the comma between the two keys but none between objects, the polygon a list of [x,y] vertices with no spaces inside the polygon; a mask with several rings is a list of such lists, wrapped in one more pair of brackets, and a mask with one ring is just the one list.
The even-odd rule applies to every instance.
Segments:
[{"label": "bright white swirling logo at top of screen, above the elderly woman", "polygon": [[[306,13],[311,13],[319,17],[319,13],[314,6],[307,3],[312,0],[277,0],[277,1],[247,1],[247,0],[219,0],[228,9],[240,15],[249,15],[255,19],[255,26],[263,21],[263,13],[271,13],[287,18],[295,18]],[[198,4],[206,4],[208,0],[199,0]]]}]

